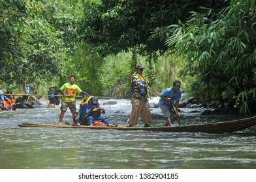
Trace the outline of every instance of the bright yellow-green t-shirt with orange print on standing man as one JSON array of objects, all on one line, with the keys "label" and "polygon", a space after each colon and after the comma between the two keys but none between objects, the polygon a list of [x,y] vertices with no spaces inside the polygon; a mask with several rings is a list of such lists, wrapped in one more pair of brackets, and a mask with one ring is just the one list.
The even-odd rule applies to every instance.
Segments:
[{"label": "bright yellow-green t-shirt with orange print on standing man", "polygon": [[[65,83],[60,89],[65,92],[66,96],[75,96],[76,93],[82,92],[78,85],[71,85],[70,83]],[[68,102],[74,101],[74,99],[74,97],[63,97],[63,100]]]}]

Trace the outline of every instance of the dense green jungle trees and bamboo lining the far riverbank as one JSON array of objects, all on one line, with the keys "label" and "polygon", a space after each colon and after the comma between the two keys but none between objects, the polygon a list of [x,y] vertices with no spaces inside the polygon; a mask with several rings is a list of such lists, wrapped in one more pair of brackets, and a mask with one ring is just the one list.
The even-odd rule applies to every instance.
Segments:
[{"label": "dense green jungle trees and bamboo lining the far riverbank", "polygon": [[231,100],[248,114],[255,11],[255,0],[0,0],[0,85],[46,94],[76,75],[89,94],[129,98],[142,63],[150,96],[179,79],[187,96]]}]

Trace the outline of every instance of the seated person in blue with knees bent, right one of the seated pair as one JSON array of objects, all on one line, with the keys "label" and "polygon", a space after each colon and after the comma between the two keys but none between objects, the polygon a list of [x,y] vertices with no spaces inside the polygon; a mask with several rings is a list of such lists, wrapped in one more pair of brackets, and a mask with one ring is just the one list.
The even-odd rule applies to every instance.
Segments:
[{"label": "seated person in blue with knees bent, right one of the seated pair", "polygon": [[92,103],[89,105],[86,114],[88,115],[87,120],[89,122],[89,125],[93,125],[93,121],[94,120],[101,120],[102,122],[104,122],[106,125],[109,125],[108,120],[106,120],[106,118],[104,118],[103,116],[101,116],[102,114],[105,114],[106,111],[104,110],[104,108],[98,103],[98,99],[97,97],[93,97],[92,99]]}]

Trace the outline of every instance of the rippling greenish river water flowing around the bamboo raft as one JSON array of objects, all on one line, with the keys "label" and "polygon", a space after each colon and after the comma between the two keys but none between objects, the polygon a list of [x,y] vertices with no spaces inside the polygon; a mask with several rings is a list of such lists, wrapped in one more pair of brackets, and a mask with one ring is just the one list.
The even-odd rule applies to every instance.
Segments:
[{"label": "rippling greenish river water flowing around the bamboo raft", "polygon": [[[157,98],[150,101],[156,101]],[[99,99],[112,124],[125,125],[129,99]],[[19,123],[58,123],[60,106],[0,111],[1,169],[235,169],[256,168],[256,127],[233,133],[165,133],[114,129],[18,127]],[[76,101],[77,108],[80,100]],[[185,125],[222,122],[241,116],[200,116],[203,109],[180,109]],[[165,123],[159,108],[151,108],[154,126]],[[71,112],[63,122],[71,121]],[[139,120],[138,125],[142,126]]]}]

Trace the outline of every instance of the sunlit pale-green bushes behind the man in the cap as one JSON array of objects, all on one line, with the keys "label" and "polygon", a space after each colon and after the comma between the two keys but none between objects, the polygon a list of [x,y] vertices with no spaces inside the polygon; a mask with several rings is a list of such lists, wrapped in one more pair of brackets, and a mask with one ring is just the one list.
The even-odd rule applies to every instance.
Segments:
[{"label": "sunlit pale-green bushes behind the man in the cap", "polygon": [[146,75],[147,84],[149,84],[148,75],[152,72],[154,76],[154,85],[148,87],[150,97],[159,96],[159,93],[172,86],[172,82],[176,79],[182,81],[182,89],[186,90],[187,86],[183,83],[187,83],[187,79],[178,77],[179,70],[183,68],[183,60],[180,57],[168,54],[158,57],[152,65],[152,70],[149,70],[147,59],[148,57],[136,54],[135,49],[128,53],[122,52],[104,58],[103,95],[113,98],[130,98],[130,79],[138,63],[146,67],[143,74]]}]

